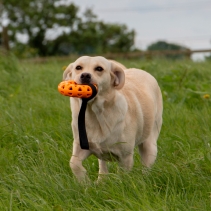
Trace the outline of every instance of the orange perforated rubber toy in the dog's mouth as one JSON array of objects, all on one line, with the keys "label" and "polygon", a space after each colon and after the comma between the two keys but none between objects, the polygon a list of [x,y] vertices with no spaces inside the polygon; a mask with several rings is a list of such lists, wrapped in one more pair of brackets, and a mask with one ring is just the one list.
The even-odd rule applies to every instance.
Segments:
[{"label": "orange perforated rubber toy in the dog's mouth", "polygon": [[[78,98],[90,98],[93,95],[92,84],[81,85],[74,81],[62,81],[58,85],[58,91],[65,96],[78,97]],[[94,85],[97,89],[97,86]]]}]

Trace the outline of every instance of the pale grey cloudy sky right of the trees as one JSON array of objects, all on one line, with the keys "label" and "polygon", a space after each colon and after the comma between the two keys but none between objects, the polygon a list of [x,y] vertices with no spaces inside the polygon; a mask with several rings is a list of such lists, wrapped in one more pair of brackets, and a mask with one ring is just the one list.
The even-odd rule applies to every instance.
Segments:
[{"label": "pale grey cloudy sky right of the trees", "polygon": [[[158,40],[192,50],[211,49],[211,0],[67,0],[92,8],[99,20],[136,31],[135,46],[145,50]],[[203,59],[194,54],[193,59]]]}]

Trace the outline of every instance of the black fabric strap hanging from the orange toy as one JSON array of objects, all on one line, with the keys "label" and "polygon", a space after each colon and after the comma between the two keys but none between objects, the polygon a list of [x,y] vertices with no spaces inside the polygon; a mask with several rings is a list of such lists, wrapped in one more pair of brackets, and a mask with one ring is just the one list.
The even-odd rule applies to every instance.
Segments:
[{"label": "black fabric strap hanging from the orange toy", "polygon": [[81,109],[78,115],[78,132],[79,132],[79,139],[80,139],[80,146],[81,149],[89,149],[89,142],[86,134],[86,125],[85,125],[85,112],[87,103],[89,100],[95,97],[97,94],[97,88],[93,84],[88,84],[92,89],[92,95],[89,98],[82,98]]}]

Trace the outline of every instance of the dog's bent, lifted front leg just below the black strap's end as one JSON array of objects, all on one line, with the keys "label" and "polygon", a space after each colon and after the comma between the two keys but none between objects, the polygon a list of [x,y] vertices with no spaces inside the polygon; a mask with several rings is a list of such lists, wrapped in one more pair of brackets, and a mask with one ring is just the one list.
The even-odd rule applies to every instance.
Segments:
[{"label": "dog's bent, lifted front leg just below the black strap's end", "polygon": [[82,162],[90,155],[91,152],[89,150],[81,149],[79,142],[73,142],[73,154],[70,159],[70,167],[80,182],[86,179],[86,169],[83,167]]}]

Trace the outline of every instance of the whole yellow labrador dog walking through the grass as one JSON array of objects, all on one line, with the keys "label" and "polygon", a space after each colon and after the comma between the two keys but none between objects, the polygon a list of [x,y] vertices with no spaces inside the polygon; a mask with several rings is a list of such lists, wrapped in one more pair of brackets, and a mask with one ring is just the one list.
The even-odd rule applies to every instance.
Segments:
[{"label": "whole yellow labrador dog walking through the grass", "polygon": [[154,163],[163,105],[160,88],[152,75],[135,68],[126,69],[104,57],[83,56],[66,68],[63,80],[98,87],[86,110],[89,150],[81,149],[79,144],[78,114],[82,101],[70,98],[74,137],[70,167],[79,181],[86,177],[82,161],[92,154],[99,160],[99,175],[108,173],[106,162],[111,160],[130,170],[135,146],[145,166]]}]

